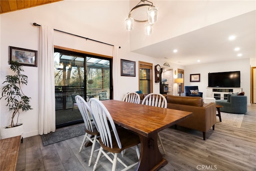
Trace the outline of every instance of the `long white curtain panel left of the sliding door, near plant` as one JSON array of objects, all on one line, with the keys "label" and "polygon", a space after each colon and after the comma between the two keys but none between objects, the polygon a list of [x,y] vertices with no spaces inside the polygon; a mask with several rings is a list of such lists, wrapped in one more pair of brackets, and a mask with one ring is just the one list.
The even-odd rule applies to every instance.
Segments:
[{"label": "long white curtain panel left of the sliding door, near plant", "polygon": [[55,131],[53,29],[42,25],[39,42],[39,134]]}]

